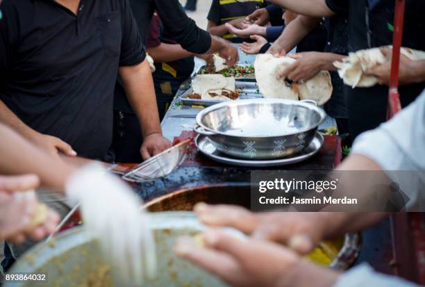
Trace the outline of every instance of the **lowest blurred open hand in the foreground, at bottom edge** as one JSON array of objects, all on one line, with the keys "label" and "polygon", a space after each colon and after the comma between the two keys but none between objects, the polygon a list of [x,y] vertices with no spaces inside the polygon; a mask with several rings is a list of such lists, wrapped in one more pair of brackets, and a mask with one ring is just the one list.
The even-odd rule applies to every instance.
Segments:
[{"label": "lowest blurred open hand in the foreground, at bottom edge", "polygon": [[235,287],[330,287],[338,273],[308,263],[276,243],[237,238],[226,231],[202,233],[205,248],[180,238],[174,248],[183,257]]}]

